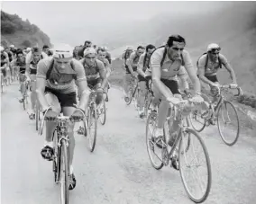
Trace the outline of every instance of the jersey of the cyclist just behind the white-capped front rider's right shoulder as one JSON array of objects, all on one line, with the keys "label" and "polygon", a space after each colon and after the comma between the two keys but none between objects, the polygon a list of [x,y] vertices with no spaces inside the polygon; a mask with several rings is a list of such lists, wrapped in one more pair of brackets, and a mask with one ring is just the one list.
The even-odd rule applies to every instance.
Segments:
[{"label": "jersey of the cyclist just behind the white-capped front rider's right shoulder", "polygon": [[82,63],[85,73],[87,76],[87,82],[96,80],[100,77],[99,73],[101,70],[105,71],[105,67],[102,61],[96,59],[95,64],[92,67],[89,67],[86,63],[86,59],[81,59],[80,62]]}]

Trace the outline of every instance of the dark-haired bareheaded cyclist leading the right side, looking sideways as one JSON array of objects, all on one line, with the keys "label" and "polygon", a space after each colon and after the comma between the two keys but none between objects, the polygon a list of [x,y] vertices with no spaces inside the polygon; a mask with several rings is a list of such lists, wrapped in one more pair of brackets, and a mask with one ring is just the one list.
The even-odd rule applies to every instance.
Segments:
[{"label": "dark-haired bareheaded cyclist leading the right side, looking sideways", "polygon": [[[196,70],[193,67],[192,60],[184,50],[186,40],[180,35],[171,35],[165,46],[156,49],[151,54],[151,75],[152,75],[152,91],[154,96],[161,99],[157,118],[157,129],[153,134],[158,146],[160,138],[163,138],[163,126],[169,114],[169,102],[178,103],[181,95],[178,91],[178,75],[183,78],[183,84],[187,82],[187,74],[194,85],[195,95],[194,102],[203,102],[200,96],[200,82],[197,78]],[[187,73],[186,73],[187,71]],[[185,87],[187,85],[184,85]],[[173,120],[170,129],[170,137],[168,144],[172,146],[173,138],[176,137],[178,131],[178,120]],[[178,169],[178,161],[172,158],[172,165]]]}]

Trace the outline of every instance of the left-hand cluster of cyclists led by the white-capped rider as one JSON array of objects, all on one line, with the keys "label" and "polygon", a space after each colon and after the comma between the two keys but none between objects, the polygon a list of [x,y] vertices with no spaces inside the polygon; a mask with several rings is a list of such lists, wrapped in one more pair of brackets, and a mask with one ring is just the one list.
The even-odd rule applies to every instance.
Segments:
[{"label": "left-hand cluster of cyclists led by the white-capped rider", "polygon": [[[10,46],[14,48],[14,46]],[[79,49],[77,49],[79,48]],[[46,136],[41,156],[49,161],[53,157],[52,134],[57,124],[60,111],[71,120],[82,120],[89,102],[90,90],[96,91],[96,105],[99,106],[105,97],[110,85],[107,81],[112,68],[111,56],[105,47],[92,47],[87,40],[84,46],[75,49],[68,45],[59,45],[52,51],[49,47],[38,46],[15,51],[1,48],[1,70],[7,68],[18,73],[20,92],[23,102],[27,94],[26,84],[31,89],[31,114],[35,119],[36,103],[46,121]],[[4,58],[5,57],[5,58]],[[15,68],[15,69],[14,69]],[[11,74],[12,80],[15,74]],[[75,147],[74,123],[69,124],[69,190],[76,186],[76,177],[73,172],[73,155]]]}]

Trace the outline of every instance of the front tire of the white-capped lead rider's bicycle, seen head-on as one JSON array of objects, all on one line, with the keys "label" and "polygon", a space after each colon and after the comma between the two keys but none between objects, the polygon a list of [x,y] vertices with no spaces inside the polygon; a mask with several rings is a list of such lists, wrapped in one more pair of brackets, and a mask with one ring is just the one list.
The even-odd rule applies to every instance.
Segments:
[{"label": "front tire of the white-capped lead rider's bicycle, seen head-on", "polygon": [[[60,201],[62,204],[69,204],[69,153],[66,140],[60,141]],[[62,182],[62,178],[64,181]]]}]

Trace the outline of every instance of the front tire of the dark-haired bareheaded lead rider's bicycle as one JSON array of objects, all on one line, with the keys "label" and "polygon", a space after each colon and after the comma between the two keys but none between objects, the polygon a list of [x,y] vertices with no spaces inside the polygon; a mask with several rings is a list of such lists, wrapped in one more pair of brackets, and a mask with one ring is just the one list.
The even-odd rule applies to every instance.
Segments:
[{"label": "front tire of the dark-haired bareheaded lead rider's bicycle", "polygon": [[[189,136],[188,136],[189,146],[186,146],[186,152],[188,150],[187,147],[188,148],[193,148],[193,147],[191,147],[192,146],[191,145],[191,138],[192,138],[192,135],[194,135],[199,140],[199,143],[202,146],[204,155],[206,157],[206,166],[207,166],[207,172],[208,172],[206,191],[205,191],[205,193],[203,194],[203,196],[201,198],[195,198],[191,194],[191,191],[189,191],[188,188],[187,188],[187,182],[185,180],[185,176],[184,176],[184,173],[183,173],[183,168],[182,168],[181,159],[180,159],[181,156],[182,156],[182,140],[183,140],[183,137],[180,137],[180,141],[179,141],[179,145],[178,145],[178,158],[179,158],[178,163],[179,163],[179,166],[180,166],[179,173],[180,173],[181,181],[183,183],[183,186],[185,188],[185,191],[187,192],[187,195],[188,195],[189,199],[193,200],[196,203],[201,203],[201,202],[204,202],[207,199],[207,197],[209,195],[209,192],[211,190],[211,185],[212,185],[212,169],[211,169],[210,158],[209,158],[208,151],[206,149],[206,144],[205,144],[204,140],[202,139],[202,137],[200,137],[198,135],[197,131],[194,130],[194,129],[186,129],[185,132],[189,134]],[[188,145],[188,142],[187,142],[187,145]],[[184,151],[183,151],[183,153],[184,153]],[[195,187],[195,185],[194,185],[194,187]]]}]

